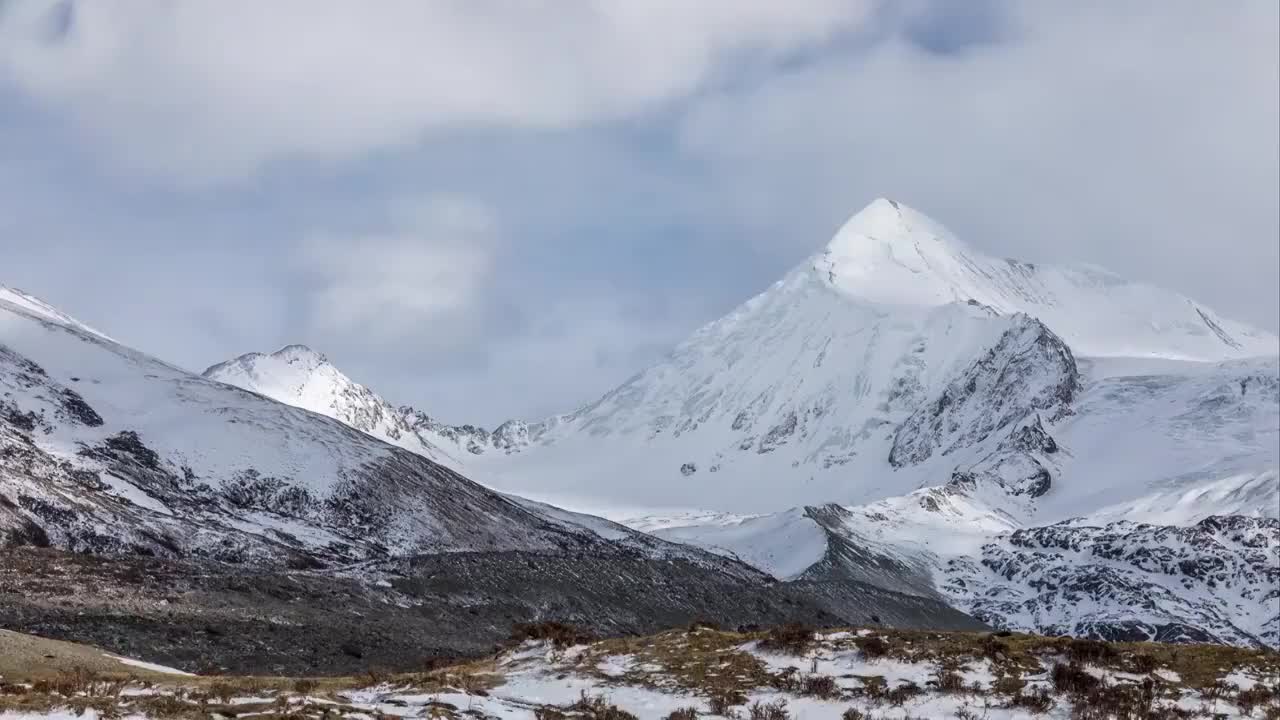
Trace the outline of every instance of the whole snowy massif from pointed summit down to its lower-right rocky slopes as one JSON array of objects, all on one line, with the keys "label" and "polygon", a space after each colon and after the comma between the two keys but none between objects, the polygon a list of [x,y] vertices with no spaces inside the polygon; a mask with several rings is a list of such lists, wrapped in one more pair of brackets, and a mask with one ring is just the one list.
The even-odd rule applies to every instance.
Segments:
[{"label": "whole snowy massif from pointed summit down to its lower-right rocky slopes", "polygon": [[[1276,644],[1256,618],[1280,560],[1277,355],[1174,292],[986,258],[877,200],[600,400],[500,433],[424,423],[415,442],[507,492],[666,509],[627,521],[780,578],[934,594],[1020,629]],[[273,392],[247,377],[228,379]],[[1157,582],[1144,559],[1203,523],[1254,523],[1256,552],[1193,533],[1160,568],[1247,570]],[[1107,566],[1128,589],[1089,585],[1097,548],[1130,553]],[[1144,591],[1183,601],[1125,610]]]}]

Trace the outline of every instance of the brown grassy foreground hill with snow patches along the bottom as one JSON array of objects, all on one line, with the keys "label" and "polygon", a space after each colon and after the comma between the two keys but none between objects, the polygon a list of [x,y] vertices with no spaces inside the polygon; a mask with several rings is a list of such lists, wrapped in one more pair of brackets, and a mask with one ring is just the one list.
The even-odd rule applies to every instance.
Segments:
[{"label": "brown grassy foreground hill with snow patches along the bottom", "polygon": [[[1036,635],[695,626],[593,642],[570,628],[481,661],[346,678],[191,676],[0,632],[0,714],[134,717],[904,720],[1280,715],[1280,656]],[[8,657],[10,661],[5,661]]]}]

